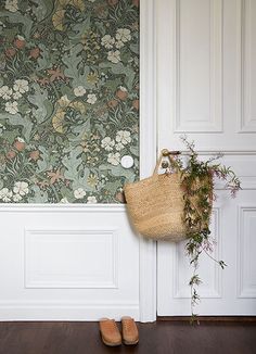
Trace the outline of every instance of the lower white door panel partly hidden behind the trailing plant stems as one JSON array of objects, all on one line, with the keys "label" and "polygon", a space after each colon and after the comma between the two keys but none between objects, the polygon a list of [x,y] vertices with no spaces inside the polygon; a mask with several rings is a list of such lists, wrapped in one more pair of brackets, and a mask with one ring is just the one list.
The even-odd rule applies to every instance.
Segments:
[{"label": "lower white door panel partly hidden behind the trailing plant stems", "polygon": [[[214,250],[213,256],[219,258],[222,252],[221,237],[220,237],[220,219],[221,211],[219,206],[215,206],[212,215],[212,235],[213,238],[217,241],[217,246]],[[174,299],[190,299],[190,287],[188,286],[192,268],[188,267],[188,260],[184,257],[183,244],[181,248],[179,244],[176,244],[175,258],[174,258]],[[207,265],[204,266],[205,261]],[[212,261],[210,261],[212,262]],[[203,270],[207,269],[207,276],[204,280]],[[188,273],[189,270],[189,273]],[[202,299],[216,299],[221,298],[221,270],[217,264],[208,264],[207,255],[202,254],[201,267],[199,273],[202,275],[203,283],[201,285],[201,298]],[[188,278],[189,276],[189,278]],[[188,278],[188,279],[187,279]],[[206,285],[206,279],[208,285]],[[182,282],[180,282],[182,280]],[[188,280],[184,282],[184,280]]]}]

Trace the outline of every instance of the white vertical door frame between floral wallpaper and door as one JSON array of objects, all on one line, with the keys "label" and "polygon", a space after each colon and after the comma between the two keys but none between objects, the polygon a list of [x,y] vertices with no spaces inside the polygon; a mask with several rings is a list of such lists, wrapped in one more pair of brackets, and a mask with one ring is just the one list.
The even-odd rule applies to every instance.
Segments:
[{"label": "white vertical door frame between floral wallpaper and door", "polygon": [[[140,0],[140,178],[149,177],[157,151],[155,1]],[[156,242],[140,237],[140,320],[156,320]]]}]

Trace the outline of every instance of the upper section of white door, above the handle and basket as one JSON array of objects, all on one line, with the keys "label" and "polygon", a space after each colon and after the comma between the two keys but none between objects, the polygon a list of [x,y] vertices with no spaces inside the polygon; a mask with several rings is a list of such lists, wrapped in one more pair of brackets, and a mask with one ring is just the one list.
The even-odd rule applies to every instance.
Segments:
[{"label": "upper section of white door, above the handle and basket", "polygon": [[159,148],[182,149],[187,132],[202,151],[255,151],[256,5],[203,3],[170,0],[156,9]]}]

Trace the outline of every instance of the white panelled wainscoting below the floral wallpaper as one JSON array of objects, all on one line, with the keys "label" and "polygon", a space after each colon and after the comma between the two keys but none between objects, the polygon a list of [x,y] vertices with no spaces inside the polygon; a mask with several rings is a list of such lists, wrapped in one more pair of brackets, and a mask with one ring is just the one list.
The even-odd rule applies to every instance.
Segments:
[{"label": "white panelled wainscoting below the floral wallpaper", "polygon": [[125,205],[0,206],[0,320],[139,319]]}]

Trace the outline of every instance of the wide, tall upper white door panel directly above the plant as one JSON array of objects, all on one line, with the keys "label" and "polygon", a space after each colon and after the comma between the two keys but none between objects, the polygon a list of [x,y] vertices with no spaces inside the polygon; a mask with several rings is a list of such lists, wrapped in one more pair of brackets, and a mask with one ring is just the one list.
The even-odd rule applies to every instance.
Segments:
[{"label": "wide, tall upper white door panel directly above the plant", "polygon": [[[199,13],[200,1],[202,11]],[[174,131],[221,132],[222,0],[175,0],[174,5]],[[196,48],[196,51],[193,48]],[[195,86],[196,90],[193,89]],[[196,92],[200,94],[196,96]]]}]

